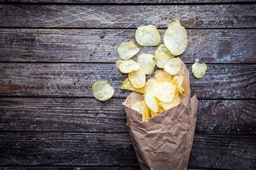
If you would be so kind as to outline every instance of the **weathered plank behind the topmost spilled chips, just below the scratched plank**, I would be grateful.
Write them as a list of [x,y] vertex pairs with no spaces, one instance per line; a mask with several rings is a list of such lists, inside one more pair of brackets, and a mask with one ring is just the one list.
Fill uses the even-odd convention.
[[[159,30],[163,40],[165,30]],[[201,30],[188,32],[185,63],[256,63],[256,30]],[[0,29],[0,61],[115,62],[118,46],[134,41],[135,30]],[[163,41],[161,41],[163,43]],[[156,47],[140,47],[154,54]]]

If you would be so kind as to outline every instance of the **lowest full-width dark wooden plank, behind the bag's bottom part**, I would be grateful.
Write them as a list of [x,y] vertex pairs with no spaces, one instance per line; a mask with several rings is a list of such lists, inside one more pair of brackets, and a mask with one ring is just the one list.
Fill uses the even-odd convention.
[[[254,168],[255,136],[200,136],[189,167]],[[0,133],[1,165],[138,165],[128,133]]]

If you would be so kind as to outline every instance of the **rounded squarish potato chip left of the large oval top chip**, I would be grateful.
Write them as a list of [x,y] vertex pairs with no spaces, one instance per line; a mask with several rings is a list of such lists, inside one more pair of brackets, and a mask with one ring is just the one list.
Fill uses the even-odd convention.
[[135,39],[140,46],[156,46],[160,43],[160,34],[153,25],[140,26],[136,30]]

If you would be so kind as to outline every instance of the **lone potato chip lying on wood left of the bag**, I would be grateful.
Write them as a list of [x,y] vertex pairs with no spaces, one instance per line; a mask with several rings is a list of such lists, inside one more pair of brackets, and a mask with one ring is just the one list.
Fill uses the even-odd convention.
[[114,95],[114,89],[106,81],[96,81],[92,84],[92,93],[99,101],[106,101]]

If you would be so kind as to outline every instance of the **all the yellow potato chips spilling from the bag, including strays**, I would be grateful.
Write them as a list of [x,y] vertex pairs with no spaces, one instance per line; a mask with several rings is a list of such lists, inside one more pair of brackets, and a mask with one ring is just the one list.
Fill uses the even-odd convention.
[[[135,38],[140,46],[157,46],[160,43],[160,34],[153,25],[138,27]],[[182,54],[186,47],[187,32],[179,20],[168,25],[164,44],[157,47],[154,55],[142,53],[134,61],[131,58],[140,50],[134,42],[123,42],[118,47],[118,55],[122,60],[116,61],[117,68],[128,74],[121,89],[143,94],[144,100],[132,106],[133,110],[142,114],[143,122],[181,103],[179,95],[185,91],[182,87],[184,77],[179,74],[182,61],[176,56]],[[161,69],[146,81],[146,75],[151,75],[156,65]],[[207,66],[195,63],[192,69],[195,76],[200,78],[204,76]],[[102,84],[103,88],[93,88],[92,91],[98,100],[105,101],[113,95],[113,90],[108,83]]]

